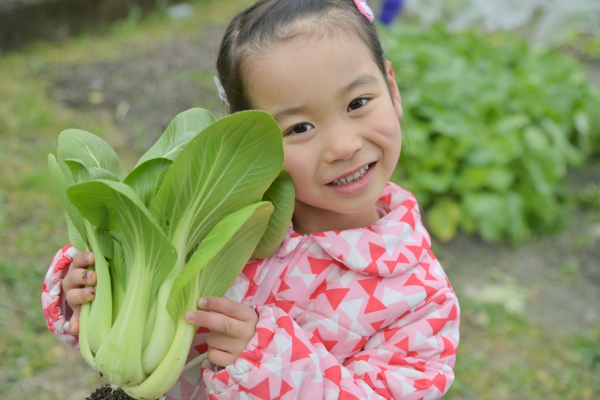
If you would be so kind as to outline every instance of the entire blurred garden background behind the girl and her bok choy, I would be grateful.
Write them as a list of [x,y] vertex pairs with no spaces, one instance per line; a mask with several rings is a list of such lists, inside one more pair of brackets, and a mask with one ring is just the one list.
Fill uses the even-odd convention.
[[[224,115],[225,25],[251,0],[0,0],[0,398],[84,399],[98,374],[47,330],[67,229],[58,134],[131,168],[179,112]],[[447,399],[600,399],[600,1],[372,1],[403,97],[393,177],[462,307]]]

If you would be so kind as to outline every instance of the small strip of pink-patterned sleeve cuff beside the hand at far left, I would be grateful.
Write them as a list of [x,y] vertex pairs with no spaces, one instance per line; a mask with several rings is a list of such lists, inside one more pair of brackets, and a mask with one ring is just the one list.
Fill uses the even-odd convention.
[[77,250],[71,246],[65,246],[56,253],[48,273],[44,278],[42,286],[42,309],[46,317],[48,328],[63,343],[70,347],[79,348],[79,338],[71,332],[69,320],[73,310],[67,303],[66,296],[62,290],[62,281],[69,272],[69,267]]

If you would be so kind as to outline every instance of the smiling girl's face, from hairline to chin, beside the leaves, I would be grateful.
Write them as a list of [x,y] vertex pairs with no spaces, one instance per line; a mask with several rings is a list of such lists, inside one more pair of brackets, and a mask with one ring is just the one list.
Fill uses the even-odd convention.
[[[375,220],[359,225],[376,222],[375,202],[402,143],[391,63],[384,76],[359,40],[298,36],[249,66],[254,108],[270,113],[284,135],[283,167],[296,185],[295,224],[315,215],[325,224],[328,218],[363,221],[367,215]],[[342,228],[313,231],[359,227],[333,225]]]

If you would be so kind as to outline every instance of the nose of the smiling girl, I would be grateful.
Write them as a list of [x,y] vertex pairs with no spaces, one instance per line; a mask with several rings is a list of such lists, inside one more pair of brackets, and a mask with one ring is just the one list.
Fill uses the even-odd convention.
[[332,124],[321,137],[324,145],[324,159],[329,164],[351,159],[364,146],[356,126],[353,127],[349,123]]

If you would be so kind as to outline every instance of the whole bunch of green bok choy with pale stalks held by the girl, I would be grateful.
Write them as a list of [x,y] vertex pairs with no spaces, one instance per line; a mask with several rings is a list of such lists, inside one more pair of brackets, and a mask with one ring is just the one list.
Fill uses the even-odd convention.
[[294,186],[281,169],[281,131],[260,111],[214,122],[192,109],[129,174],[106,142],[80,130],[62,132],[48,162],[71,242],[96,256],[81,353],[132,397],[161,397],[195,333],[185,312],[201,296],[225,294],[287,232]]

